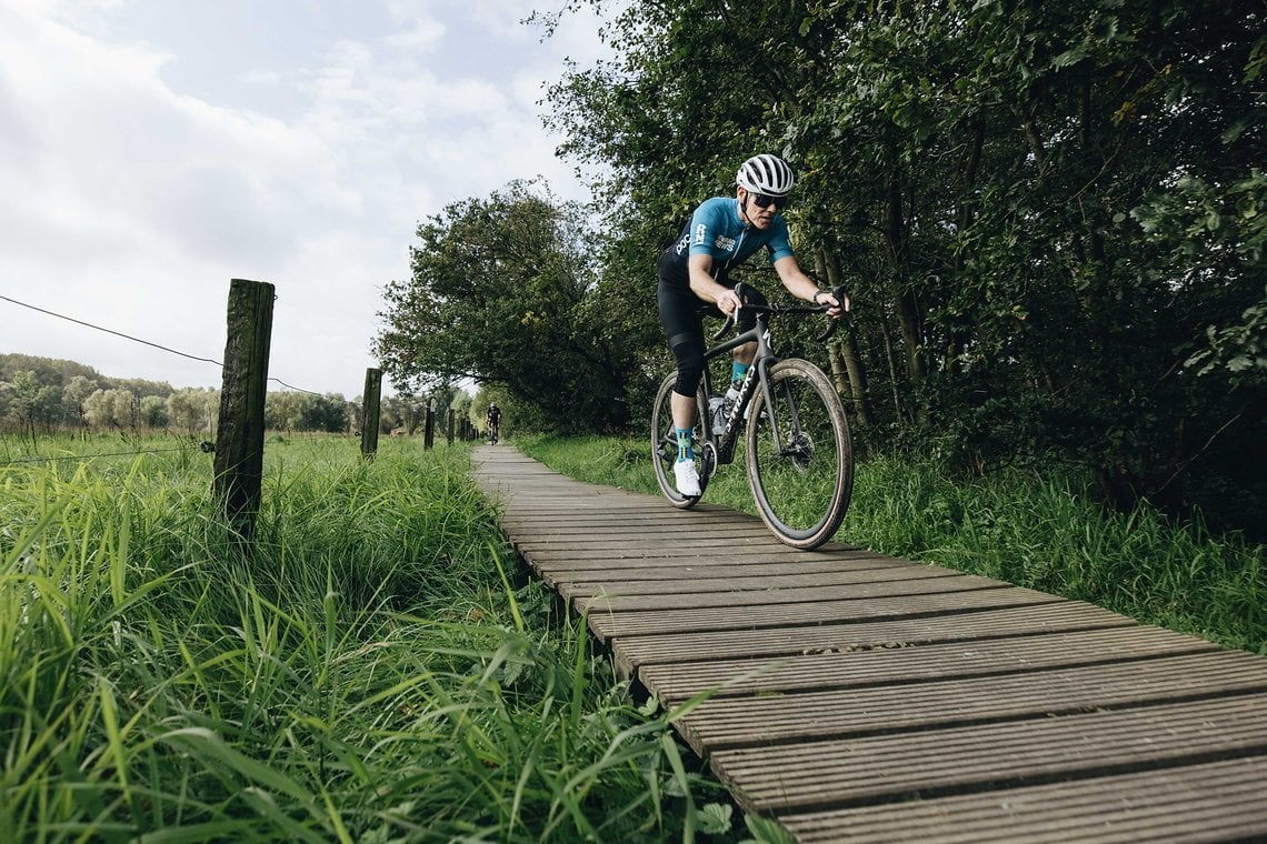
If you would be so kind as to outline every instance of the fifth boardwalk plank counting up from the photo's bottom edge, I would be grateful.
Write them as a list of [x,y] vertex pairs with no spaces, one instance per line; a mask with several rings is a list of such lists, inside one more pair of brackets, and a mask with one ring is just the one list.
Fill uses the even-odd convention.
[[740,657],[788,657],[906,648],[934,643],[981,642],[1052,631],[1134,628],[1130,619],[1081,601],[981,610],[944,616],[824,623],[816,626],[703,633],[669,631],[614,639],[612,652],[622,677],[647,666],[672,666]]

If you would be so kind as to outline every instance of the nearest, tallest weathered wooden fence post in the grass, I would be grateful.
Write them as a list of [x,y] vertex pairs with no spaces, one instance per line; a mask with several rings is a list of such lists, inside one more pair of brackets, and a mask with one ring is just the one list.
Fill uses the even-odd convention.
[[224,502],[229,528],[246,540],[255,533],[260,511],[274,290],[262,281],[233,278],[229,283],[212,491]]

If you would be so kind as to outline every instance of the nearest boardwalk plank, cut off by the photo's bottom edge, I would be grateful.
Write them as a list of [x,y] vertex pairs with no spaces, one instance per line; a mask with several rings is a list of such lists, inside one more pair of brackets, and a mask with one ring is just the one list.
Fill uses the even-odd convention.
[[779,816],[801,844],[1267,840],[1267,757]]

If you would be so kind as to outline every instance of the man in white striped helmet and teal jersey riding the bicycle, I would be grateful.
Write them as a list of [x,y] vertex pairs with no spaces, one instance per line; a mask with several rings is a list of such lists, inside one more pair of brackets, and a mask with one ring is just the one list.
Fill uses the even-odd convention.
[[[673,387],[673,424],[678,434],[674,480],[678,492],[684,496],[701,493],[691,434],[696,421],[696,390],[704,368],[703,316],[730,316],[744,304],[768,304],[765,296],[749,285],[744,285],[748,301],[741,302],[727,278],[731,267],[765,247],[779,281],[793,296],[827,305],[827,314],[834,319],[849,309],[849,297],[837,301],[831,292],[820,290],[802,272],[792,252],[783,211],[794,183],[792,168],[782,158],[753,156],[735,176],[735,196],[704,200],[678,240],[660,256],[656,287],[660,325],[678,362],[678,382]],[[755,325],[756,316],[751,311],[740,311],[740,330]],[[731,390],[744,380],[755,353],[755,343],[735,349]]]

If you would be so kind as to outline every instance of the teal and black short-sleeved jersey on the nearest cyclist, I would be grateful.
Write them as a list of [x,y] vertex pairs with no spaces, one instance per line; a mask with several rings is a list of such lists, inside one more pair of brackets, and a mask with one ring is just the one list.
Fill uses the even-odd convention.
[[769,252],[770,263],[793,254],[783,215],[775,214],[768,229],[758,229],[744,223],[739,215],[739,200],[717,196],[701,202],[682,237],[665,249],[660,266],[669,271],[673,281],[688,283],[687,262],[691,256],[707,254],[713,259],[713,277],[726,283],[730,268],[761,247]]

